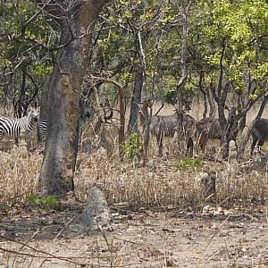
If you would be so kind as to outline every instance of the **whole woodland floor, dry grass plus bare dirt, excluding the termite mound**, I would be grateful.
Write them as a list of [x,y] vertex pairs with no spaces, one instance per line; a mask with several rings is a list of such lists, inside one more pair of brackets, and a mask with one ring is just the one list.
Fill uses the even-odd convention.
[[[34,197],[42,155],[14,147],[0,158],[0,267],[268,267],[265,171],[172,156],[133,168],[80,153],[76,199],[54,204]],[[205,163],[217,172],[214,205],[200,200]],[[72,222],[96,181],[113,223],[90,233]]]

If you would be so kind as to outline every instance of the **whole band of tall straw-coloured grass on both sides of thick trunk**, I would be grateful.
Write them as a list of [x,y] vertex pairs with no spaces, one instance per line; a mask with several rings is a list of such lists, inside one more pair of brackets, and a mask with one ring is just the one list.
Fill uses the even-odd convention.
[[[171,114],[166,107],[163,114]],[[157,109],[155,109],[156,111]],[[1,140],[3,142],[3,140]],[[8,141],[6,141],[8,143]],[[167,155],[155,157],[155,142],[150,141],[149,162],[146,167],[133,168],[131,160],[120,162],[118,154],[107,156],[105,151],[86,154],[80,152],[79,167],[75,173],[75,194],[84,201],[91,183],[99,182],[105,188],[110,205],[124,203],[138,209],[142,206],[181,207],[202,206],[199,194],[198,176],[202,167],[190,166],[177,171],[171,140],[166,140]],[[37,191],[38,176],[43,155],[37,152],[27,156],[25,145],[13,147],[10,151],[0,151],[0,202],[21,202]],[[219,205],[264,205],[268,198],[268,176],[265,172],[239,172],[230,176],[225,164],[208,162],[218,173],[217,203]]]

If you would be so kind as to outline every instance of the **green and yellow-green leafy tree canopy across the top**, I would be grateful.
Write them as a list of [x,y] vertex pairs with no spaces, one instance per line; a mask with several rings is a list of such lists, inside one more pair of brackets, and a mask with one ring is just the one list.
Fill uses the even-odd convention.
[[[91,71],[131,83],[133,68],[141,64],[136,42],[140,34],[149,95],[163,99],[180,78],[182,13],[189,3],[186,96],[188,90],[198,92],[201,72],[203,86],[219,84],[221,69],[221,83],[230,82],[236,97],[247,95],[250,100],[264,94],[268,69],[264,0],[111,1],[96,24]],[[9,86],[7,94],[20,91],[23,71],[29,75],[29,88],[33,81],[41,88],[59,44],[58,18],[34,1],[3,1],[1,14],[2,91],[4,85]],[[237,108],[243,105],[238,103]]]

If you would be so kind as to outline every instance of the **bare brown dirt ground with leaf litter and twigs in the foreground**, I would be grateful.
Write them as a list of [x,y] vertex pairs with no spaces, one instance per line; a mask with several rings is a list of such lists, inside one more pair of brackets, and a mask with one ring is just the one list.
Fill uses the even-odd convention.
[[261,208],[111,210],[113,230],[96,233],[72,223],[80,205],[0,214],[0,267],[268,267]]

